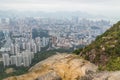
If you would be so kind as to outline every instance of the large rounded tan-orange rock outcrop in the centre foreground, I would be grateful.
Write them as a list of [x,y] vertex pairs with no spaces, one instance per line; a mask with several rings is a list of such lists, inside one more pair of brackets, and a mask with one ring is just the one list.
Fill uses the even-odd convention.
[[73,54],[57,54],[33,66],[29,73],[4,80],[76,80],[97,66]]

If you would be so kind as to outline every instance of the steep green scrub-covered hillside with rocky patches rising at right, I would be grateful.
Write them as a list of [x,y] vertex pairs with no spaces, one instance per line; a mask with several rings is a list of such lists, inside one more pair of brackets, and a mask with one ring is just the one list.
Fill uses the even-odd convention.
[[74,53],[99,65],[100,70],[120,70],[120,21],[95,41]]

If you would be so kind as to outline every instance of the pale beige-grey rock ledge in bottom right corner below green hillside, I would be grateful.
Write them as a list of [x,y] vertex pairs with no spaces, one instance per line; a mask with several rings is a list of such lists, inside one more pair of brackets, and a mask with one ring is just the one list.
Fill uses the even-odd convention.
[[120,80],[120,71],[87,72],[86,75],[80,77],[79,80]]

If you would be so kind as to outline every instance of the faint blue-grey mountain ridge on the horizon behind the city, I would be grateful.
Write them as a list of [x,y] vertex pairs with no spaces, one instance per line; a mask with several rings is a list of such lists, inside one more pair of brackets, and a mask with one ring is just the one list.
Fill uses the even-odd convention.
[[80,18],[100,18],[104,19],[102,15],[92,15],[81,11],[58,11],[58,12],[43,12],[43,11],[0,11],[0,17],[50,17],[50,18],[68,18],[68,17],[80,17]]

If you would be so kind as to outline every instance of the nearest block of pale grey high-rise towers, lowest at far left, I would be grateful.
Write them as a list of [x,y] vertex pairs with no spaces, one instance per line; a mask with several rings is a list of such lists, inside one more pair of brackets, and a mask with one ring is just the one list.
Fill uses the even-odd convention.
[[16,66],[29,66],[32,59],[34,58],[34,53],[30,51],[23,51],[17,55],[9,55],[7,53],[2,55],[4,66],[16,65]]

